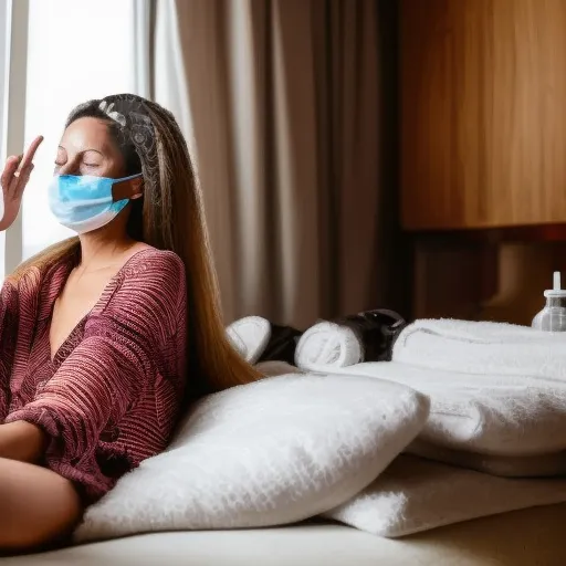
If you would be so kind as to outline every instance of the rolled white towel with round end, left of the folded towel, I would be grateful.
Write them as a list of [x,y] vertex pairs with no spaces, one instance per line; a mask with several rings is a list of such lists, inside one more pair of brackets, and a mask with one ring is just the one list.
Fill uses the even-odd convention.
[[319,365],[347,367],[364,360],[364,345],[347,326],[321,322],[301,336],[295,349],[295,364],[308,370]]

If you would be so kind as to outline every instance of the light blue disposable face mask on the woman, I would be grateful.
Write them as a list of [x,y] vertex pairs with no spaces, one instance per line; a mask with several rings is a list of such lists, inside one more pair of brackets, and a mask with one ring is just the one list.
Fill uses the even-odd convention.
[[59,222],[80,234],[112,222],[129,202],[114,202],[113,185],[142,177],[142,174],[111,179],[90,175],[56,175],[49,186],[51,212]]

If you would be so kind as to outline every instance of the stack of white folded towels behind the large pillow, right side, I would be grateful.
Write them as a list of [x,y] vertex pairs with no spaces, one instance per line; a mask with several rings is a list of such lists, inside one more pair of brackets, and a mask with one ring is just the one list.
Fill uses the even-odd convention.
[[566,473],[566,335],[422,319],[400,333],[391,359],[310,369],[389,379],[428,395],[430,418],[413,454],[503,476]]

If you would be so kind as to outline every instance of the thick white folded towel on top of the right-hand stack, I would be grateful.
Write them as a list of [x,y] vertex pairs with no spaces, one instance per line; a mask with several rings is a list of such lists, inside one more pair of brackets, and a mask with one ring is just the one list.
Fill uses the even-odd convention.
[[566,333],[502,323],[421,319],[401,332],[392,360],[468,374],[566,379]]

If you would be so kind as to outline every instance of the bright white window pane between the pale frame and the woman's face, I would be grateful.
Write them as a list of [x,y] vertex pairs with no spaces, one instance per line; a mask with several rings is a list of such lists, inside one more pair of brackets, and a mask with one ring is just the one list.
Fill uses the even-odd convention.
[[72,235],[51,216],[46,195],[69,112],[91,98],[136,92],[135,1],[29,2],[25,142],[45,139],[23,199],[22,259]]

